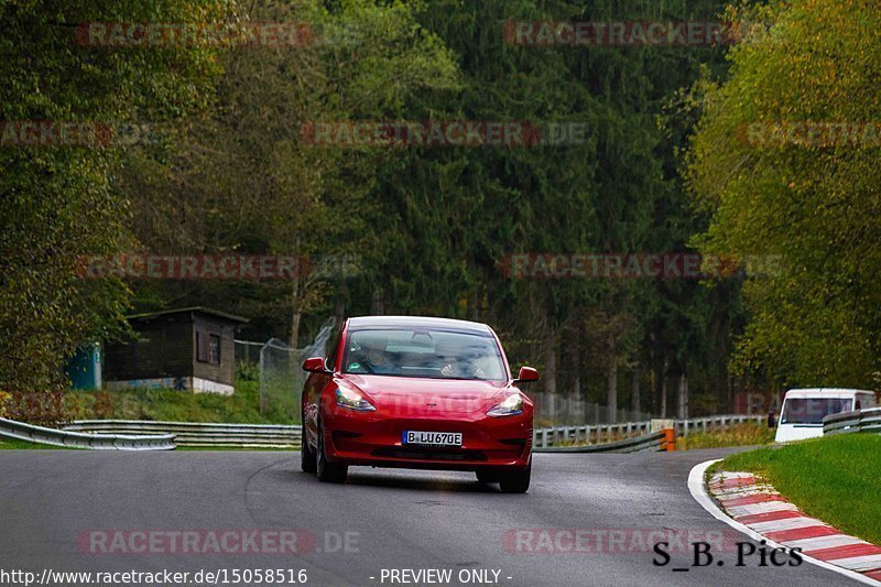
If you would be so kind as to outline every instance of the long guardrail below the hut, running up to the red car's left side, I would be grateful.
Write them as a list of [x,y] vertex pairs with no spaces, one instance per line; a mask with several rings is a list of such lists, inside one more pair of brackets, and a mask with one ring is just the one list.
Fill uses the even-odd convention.
[[177,446],[236,448],[296,448],[301,426],[281,424],[216,424],[142,420],[80,420],[65,430],[111,434],[174,434]]

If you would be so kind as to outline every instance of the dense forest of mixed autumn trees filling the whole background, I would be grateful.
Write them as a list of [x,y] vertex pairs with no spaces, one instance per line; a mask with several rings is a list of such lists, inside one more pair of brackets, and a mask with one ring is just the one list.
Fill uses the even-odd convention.
[[[64,389],[78,345],[128,336],[128,314],[195,305],[292,346],[328,316],[486,322],[512,367],[541,370],[537,391],[654,414],[878,388],[881,6],[728,4],[0,0],[0,390]],[[578,44],[530,24],[561,22],[725,34]],[[267,23],[274,36],[254,34]],[[429,121],[526,131],[350,132]],[[81,268],[230,253],[309,270]],[[704,270],[681,271],[698,254]],[[569,267],[590,256],[599,270]],[[675,267],[622,270],[645,256]]]

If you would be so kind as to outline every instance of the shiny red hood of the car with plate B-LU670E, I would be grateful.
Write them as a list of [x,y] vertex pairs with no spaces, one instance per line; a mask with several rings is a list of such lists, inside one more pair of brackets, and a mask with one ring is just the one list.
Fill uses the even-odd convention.
[[400,413],[431,411],[437,414],[486,412],[512,390],[507,381],[423,379],[346,374],[345,384],[366,394],[378,410]]

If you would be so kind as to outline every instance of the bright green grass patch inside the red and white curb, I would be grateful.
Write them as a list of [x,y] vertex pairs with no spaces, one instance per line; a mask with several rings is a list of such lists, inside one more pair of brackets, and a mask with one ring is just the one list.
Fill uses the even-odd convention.
[[751,471],[807,515],[881,544],[881,435],[841,434],[759,448],[717,463],[708,474]]

